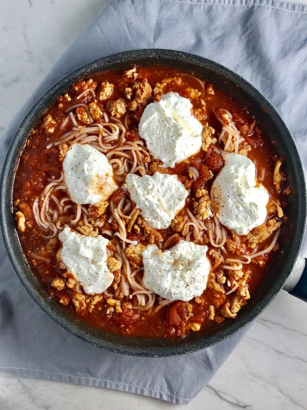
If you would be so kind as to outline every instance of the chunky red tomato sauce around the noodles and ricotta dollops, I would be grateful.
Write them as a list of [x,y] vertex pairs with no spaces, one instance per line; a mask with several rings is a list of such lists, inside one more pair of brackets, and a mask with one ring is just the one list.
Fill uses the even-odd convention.
[[[91,77],[97,82],[96,87],[94,87],[96,97],[102,81],[108,81],[110,84],[114,85],[114,91],[111,97],[104,101],[100,101],[98,99],[98,105],[102,111],[108,113],[108,101],[111,100],[113,101],[121,98],[127,103],[128,100],[126,98],[125,89],[126,87],[133,86],[135,81],[147,81],[152,89],[155,89],[155,86],[157,86],[158,83],[160,83],[160,85],[165,83],[163,93],[176,91],[181,96],[190,98],[193,104],[193,114],[202,122],[204,126],[208,123],[209,126],[213,127],[215,129],[214,136],[216,137],[218,137],[222,131],[222,124],[216,118],[214,112],[217,109],[228,110],[232,114],[234,123],[239,130],[240,135],[245,138],[247,144],[251,148],[247,154],[248,157],[255,163],[257,177],[261,177],[261,183],[268,190],[270,197],[278,199],[282,204],[282,208],[286,211],[287,196],[282,193],[277,193],[276,186],[273,183],[274,167],[278,158],[277,151],[266,136],[265,130],[261,130],[255,123],[252,113],[250,113],[246,108],[238,106],[230,96],[216,89],[214,85],[212,94],[212,87],[207,84],[206,81],[204,83],[206,91],[203,95],[192,98],[191,89],[200,90],[202,93],[198,79],[191,75],[182,75],[182,71],[177,69],[161,68],[158,66],[138,67],[137,73],[138,78],[136,80],[133,77],[126,77],[123,75],[123,72],[119,71],[103,72],[95,74]],[[182,80],[179,81],[178,78],[181,78]],[[167,83],[165,79],[172,80]],[[86,81],[87,78],[84,78],[84,80]],[[61,301],[61,303],[63,300],[68,301],[67,305],[63,305],[63,309],[68,310],[73,316],[80,318],[80,320],[89,323],[91,326],[96,327],[97,329],[106,330],[108,332],[125,336],[146,338],[176,336],[184,337],[191,330],[199,330],[197,326],[198,324],[200,327],[205,327],[225,320],[225,316],[221,313],[221,309],[227,302],[230,302],[236,294],[236,292],[233,292],[232,294],[225,296],[225,292],[228,292],[231,289],[231,287],[228,286],[229,282],[227,272],[224,272],[224,275],[227,278],[226,282],[220,283],[220,288],[224,290],[224,295],[214,291],[211,286],[211,289],[207,288],[201,297],[196,299],[193,298],[190,302],[174,301],[165,308],[160,309],[155,314],[152,314],[152,311],[142,312],[136,309],[131,309],[129,303],[135,303],[136,296],[131,299],[129,297],[121,297],[120,303],[122,312],[116,312],[114,310],[110,313],[110,306],[106,302],[107,297],[103,296],[102,300],[95,304],[91,312],[86,307],[86,309],[80,313],[76,313],[76,308],[72,303],[72,298],[76,294],[75,288],[70,289],[67,286],[67,281],[70,275],[63,276],[66,272],[65,268],[58,264],[58,260],[56,258],[56,254],[60,248],[60,242],[57,240],[57,235],[51,240],[45,238],[46,230],[39,228],[37,225],[33,216],[32,207],[35,198],[41,194],[42,190],[49,183],[50,178],[57,179],[60,177],[62,162],[59,159],[59,146],[53,145],[50,147],[50,145],[52,142],[57,141],[64,133],[69,132],[73,127],[71,122],[68,121],[67,125],[63,127],[63,129],[60,129],[59,125],[68,115],[65,110],[75,104],[89,105],[94,101],[94,99],[96,99],[92,92],[87,92],[78,99],[77,96],[83,91],[82,87],[83,86],[81,84],[79,90],[70,89],[68,91],[68,95],[71,98],[69,101],[64,96],[58,98],[56,103],[47,113],[50,114],[56,121],[57,125],[54,132],[48,133],[46,128],[43,126],[43,119],[41,119],[29,136],[27,146],[20,158],[14,186],[15,210],[22,212],[26,218],[26,230],[25,232],[19,232],[19,237],[33,271],[43,283],[46,291],[52,298],[57,301]],[[152,93],[148,101],[146,101],[146,104],[151,103],[155,99],[159,100],[159,93],[156,97],[155,94]],[[143,110],[144,107],[139,107],[134,111],[127,110],[124,114],[126,115],[126,123],[128,124],[128,130],[125,134],[125,139],[127,141],[141,140],[138,133],[138,122]],[[72,112],[75,114],[76,109]],[[121,117],[120,119],[123,120],[123,118],[124,117]],[[76,120],[79,125],[85,125],[82,121],[78,120],[77,117]],[[103,124],[103,117],[97,119],[96,122],[98,124]],[[216,146],[219,145],[216,144]],[[223,148],[223,143],[221,143],[220,147]],[[153,172],[152,170],[155,168],[152,167],[158,167],[161,171],[161,164],[161,161],[154,160],[151,157],[148,172]],[[185,184],[187,189],[190,190],[189,197],[187,198],[186,209],[189,209],[194,215],[195,211],[193,209],[193,201],[195,199],[196,190],[205,188],[210,192],[212,181],[223,167],[223,164],[224,161],[221,153],[218,150],[215,150],[215,146],[211,144],[207,151],[201,150],[200,153],[188,158],[182,163],[176,164],[174,168],[168,168],[167,172],[169,174],[177,174],[180,181]],[[196,181],[194,181],[189,175],[188,168],[190,166],[199,171],[200,177]],[[211,177],[211,172],[214,175],[213,178]],[[122,185],[122,180],[117,180],[117,182],[118,185]],[[286,184],[286,182],[284,182],[284,184]],[[283,185],[283,188],[284,187],[286,187],[286,185]],[[119,188],[119,190],[113,195],[113,202],[117,205],[124,194],[126,194],[125,190]],[[58,200],[61,200],[65,194],[59,190],[54,195]],[[52,205],[50,206],[52,207]],[[89,206],[85,205],[85,208],[88,209]],[[55,207],[53,209],[55,209]],[[62,217],[63,222],[70,224],[70,216],[73,215],[74,212],[74,209],[70,208],[65,216]],[[101,229],[99,228],[99,232],[104,229],[115,233],[116,226],[114,221],[108,222],[109,217],[111,216],[111,211],[109,208],[106,209],[105,214],[106,218],[103,221],[103,227]],[[181,211],[180,215],[186,215],[186,210],[184,209]],[[269,217],[272,217],[272,215],[275,214],[270,214]],[[279,220],[277,216],[276,219]],[[75,227],[72,226],[72,228]],[[230,230],[226,229],[226,232],[229,239],[233,238]],[[163,237],[163,243],[165,243],[165,241],[176,232],[169,227],[165,230],[159,231],[159,233]],[[179,237],[183,237],[181,232],[178,232],[178,235]],[[265,249],[271,243],[273,235],[274,234],[272,234],[264,242],[260,243],[257,251]],[[128,233],[127,238],[130,240],[137,240],[145,245],[148,243],[148,236],[146,236],[144,229],[142,228],[139,232],[134,231]],[[247,239],[241,237],[240,240],[242,243],[242,252],[244,251],[247,255],[251,255],[254,250],[247,247]],[[170,245],[172,245],[172,243],[170,243]],[[207,243],[207,245],[209,250],[213,249],[210,242]],[[33,254],[35,255],[33,256]],[[40,260],[37,259],[37,255],[40,257]],[[226,259],[227,257],[236,257],[237,255],[231,251],[228,251],[228,254],[224,254],[223,256],[224,259]],[[257,285],[267,273],[266,263],[270,257],[271,254],[261,255],[256,259],[259,263],[250,263],[249,265],[244,265],[243,267],[244,272],[247,272],[247,270],[249,272],[247,286],[251,297],[253,297],[253,293],[257,288]],[[209,255],[209,259],[212,265],[214,265],[214,257]],[[221,271],[221,269],[216,267],[214,272],[216,273],[218,271]],[[66,285],[63,290],[57,290],[51,286],[51,282],[55,278],[64,278]],[[237,289],[239,290],[240,286]],[[91,298],[91,296],[84,294],[81,286],[79,291],[81,292],[81,295],[85,295],[86,299]],[[111,286],[107,292],[114,296],[116,290]],[[86,306],[87,305],[88,304],[86,303]],[[155,306],[157,306],[157,300],[155,302]],[[215,310],[213,320],[210,320],[211,308],[209,309],[209,306],[213,306]]]

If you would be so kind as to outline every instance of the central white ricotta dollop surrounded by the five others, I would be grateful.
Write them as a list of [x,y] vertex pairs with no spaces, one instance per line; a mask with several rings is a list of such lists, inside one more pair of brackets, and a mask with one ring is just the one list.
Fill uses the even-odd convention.
[[150,227],[165,229],[185,206],[188,191],[177,175],[156,172],[152,176],[128,174],[127,189]]

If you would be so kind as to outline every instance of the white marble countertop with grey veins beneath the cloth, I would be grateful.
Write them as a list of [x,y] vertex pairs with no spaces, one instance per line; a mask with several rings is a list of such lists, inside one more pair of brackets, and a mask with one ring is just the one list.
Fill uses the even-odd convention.
[[[2,0],[0,131],[104,3],[105,0]],[[306,4],[307,0],[296,0],[296,3]],[[306,346],[307,303],[281,291],[209,385],[186,408],[307,409]],[[110,407],[143,410],[180,406],[103,388],[0,372],[0,409],[56,410],[62,407],[65,410]]]

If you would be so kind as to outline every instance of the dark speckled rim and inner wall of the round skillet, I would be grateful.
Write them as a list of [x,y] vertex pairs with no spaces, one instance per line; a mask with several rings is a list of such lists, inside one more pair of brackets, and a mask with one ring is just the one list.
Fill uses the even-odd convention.
[[[282,235],[280,249],[274,253],[267,267],[268,273],[249,303],[242,308],[238,318],[225,320],[210,329],[195,332],[185,339],[155,340],[127,338],[113,335],[78,321],[52,300],[46,289],[32,272],[21,249],[12,214],[13,185],[19,158],[28,135],[36,122],[53,104],[56,97],[67,91],[80,78],[108,69],[129,69],[133,65],[158,63],[175,66],[199,74],[222,91],[233,96],[242,106],[255,115],[260,126],[266,130],[287,167],[292,194],[287,210],[289,222]],[[51,87],[30,110],[13,136],[7,154],[1,181],[0,216],[5,245],[13,267],[34,301],[40,308],[73,335],[106,350],[126,355],[161,357],[174,356],[201,350],[233,335],[250,323],[265,309],[282,288],[295,263],[304,232],[306,216],[306,192],[303,169],[293,139],[280,116],[253,86],[242,77],[211,60],[196,55],[171,50],[134,50],[103,57],[71,72]]]

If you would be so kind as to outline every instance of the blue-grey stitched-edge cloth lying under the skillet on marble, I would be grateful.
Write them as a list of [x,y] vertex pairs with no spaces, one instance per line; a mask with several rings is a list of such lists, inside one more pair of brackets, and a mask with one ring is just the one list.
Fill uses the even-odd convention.
[[[307,7],[269,0],[109,1],[2,136],[1,167],[21,119],[55,81],[93,59],[139,48],[199,54],[245,77],[283,117],[307,169]],[[305,240],[302,256],[306,247]],[[36,306],[19,283],[2,240],[0,258],[0,370],[5,372],[187,404],[243,336],[173,358],[105,352],[64,331]]]

